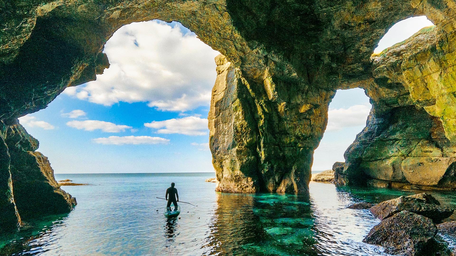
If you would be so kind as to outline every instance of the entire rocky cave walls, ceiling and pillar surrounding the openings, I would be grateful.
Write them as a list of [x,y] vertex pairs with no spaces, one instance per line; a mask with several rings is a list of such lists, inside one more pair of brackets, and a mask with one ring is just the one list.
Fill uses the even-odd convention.
[[[451,164],[443,152],[456,140],[453,0],[18,0],[0,8],[0,229],[71,210],[74,199],[58,188],[17,118],[46,108],[68,86],[94,80],[109,66],[104,43],[136,21],[179,21],[223,54],[208,117],[218,191],[306,193],[328,104],[337,89],[353,87],[366,90],[373,110],[339,166],[339,183],[396,179],[369,172],[375,161],[396,159],[372,146],[391,136],[434,143],[442,155],[432,157]],[[386,30],[412,15],[436,26],[411,47],[371,59]],[[420,131],[406,138],[403,124]],[[415,156],[413,148],[401,153],[404,184],[416,183],[404,170],[431,154]],[[385,171],[397,167],[388,163]],[[391,177],[398,177],[396,167]],[[36,212],[37,204],[49,207]]]

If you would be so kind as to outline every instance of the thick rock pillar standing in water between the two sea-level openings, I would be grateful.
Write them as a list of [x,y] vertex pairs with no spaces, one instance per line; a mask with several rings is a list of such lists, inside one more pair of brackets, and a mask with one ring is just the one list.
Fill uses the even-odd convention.
[[[306,110],[298,108],[303,99],[268,103],[259,97],[268,92],[257,92],[225,56],[217,56],[216,63],[218,76],[208,116],[216,190],[307,192],[311,154],[321,139],[314,136],[322,135],[327,117],[321,113],[326,113],[333,93],[315,95],[311,100],[316,105]],[[273,90],[274,85],[264,86]],[[315,125],[311,127],[309,120]],[[310,148],[300,146],[309,144]]]

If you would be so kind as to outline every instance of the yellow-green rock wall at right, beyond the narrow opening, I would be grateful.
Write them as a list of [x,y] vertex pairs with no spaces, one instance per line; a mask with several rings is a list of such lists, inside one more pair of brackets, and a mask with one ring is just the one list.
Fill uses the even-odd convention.
[[375,86],[366,93],[373,110],[337,184],[456,188],[452,37],[428,27],[372,57]]

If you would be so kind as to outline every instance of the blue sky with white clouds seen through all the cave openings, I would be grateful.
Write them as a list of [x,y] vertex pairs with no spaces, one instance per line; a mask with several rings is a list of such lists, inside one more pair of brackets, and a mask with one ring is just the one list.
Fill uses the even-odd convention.
[[[412,35],[426,22],[415,17],[404,28]],[[213,172],[206,118],[218,52],[180,23],[158,20],[123,26],[104,52],[111,66],[96,81],[20,118],[55,173]],[[370,108],[362,89],[337,91],[314,171],[343,161]]]

